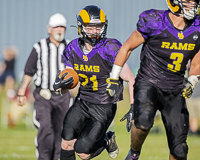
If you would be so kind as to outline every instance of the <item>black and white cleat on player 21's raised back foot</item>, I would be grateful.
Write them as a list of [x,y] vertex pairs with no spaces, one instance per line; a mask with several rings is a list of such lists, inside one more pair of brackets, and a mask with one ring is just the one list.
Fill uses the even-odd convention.
[[108,131],[105,136],[105,140],[107,142],[106,150],[110,156],[110,158],[116,158],[119,152],[119,148],[117,146],[115,140],[115,132]]

